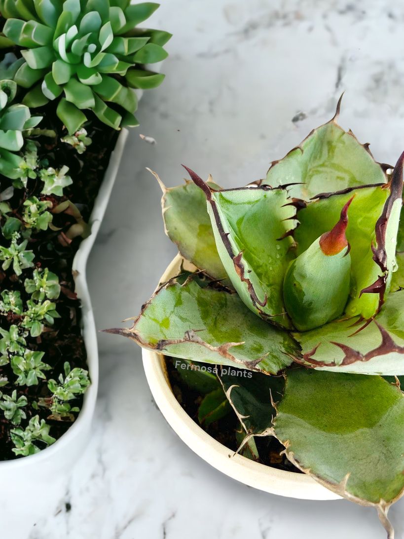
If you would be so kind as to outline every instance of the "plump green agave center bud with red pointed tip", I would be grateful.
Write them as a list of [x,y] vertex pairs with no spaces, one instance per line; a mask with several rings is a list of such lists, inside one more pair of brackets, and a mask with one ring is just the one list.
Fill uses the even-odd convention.
[[288,315],[299,331],[307,331],[342,315],[350,291],[351,257],[346,239],[348,208],[338,223],[292,260],[283,281]]

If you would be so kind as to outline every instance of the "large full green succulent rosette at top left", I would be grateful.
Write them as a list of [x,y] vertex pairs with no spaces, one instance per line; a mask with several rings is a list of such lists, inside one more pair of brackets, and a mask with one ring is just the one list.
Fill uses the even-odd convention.
[[171,37],[136,29],[157,8],[130,0],[0,0],[4,35],[22,47],[13,78],[29,89],[25,105],[58,99],[69,135],[86,122],[88,109],[114,129],[138,125],[131,88],[162,82],[164,75],[142,66],[163,60],[162,46]]

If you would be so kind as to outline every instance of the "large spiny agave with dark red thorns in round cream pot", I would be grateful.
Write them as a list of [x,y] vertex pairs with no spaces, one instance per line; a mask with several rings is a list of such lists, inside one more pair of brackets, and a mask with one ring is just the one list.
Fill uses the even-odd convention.
[[404,291],[393,279],[404,154],[394,169],[375,162],[338,113],[246,187],[221,189],[190,169],[192,182],[160,182],[166,233],[194,271],[159,286],[133,327],[108,331],[255,371],[254,384],[219,371],[243,444],[276,437],[303,472],[375,507],[393,537],[404,396],[384,377],[404,375]]

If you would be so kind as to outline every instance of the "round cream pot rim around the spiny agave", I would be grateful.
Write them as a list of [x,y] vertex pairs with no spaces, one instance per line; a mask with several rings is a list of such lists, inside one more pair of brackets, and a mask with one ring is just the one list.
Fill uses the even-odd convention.
[[[182,258],[177,256],[164,272],[161,282],[180,272]],[[340,496],[326,489],[308,475],[286,472],[233,454],[209,436],[185,412],[173,395],[168,381],[164,357],[142,350],[143,367],[155,402],[172,429],[208,464],[229,477],[250,487],[304,500],[337,500]]]

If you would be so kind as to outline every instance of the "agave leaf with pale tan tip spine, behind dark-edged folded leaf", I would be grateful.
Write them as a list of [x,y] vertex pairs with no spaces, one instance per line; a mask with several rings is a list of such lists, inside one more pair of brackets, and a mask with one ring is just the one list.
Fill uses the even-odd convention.
[[[203,192],[192,182],[166,188],[158,175],[152,174],[163,191],[162,209],[167,236],[178,246],[183,257],[198,269],[212,279],[226,279],[227,273],[216,247]],[[213,182],[210,185],[220,189]]]

